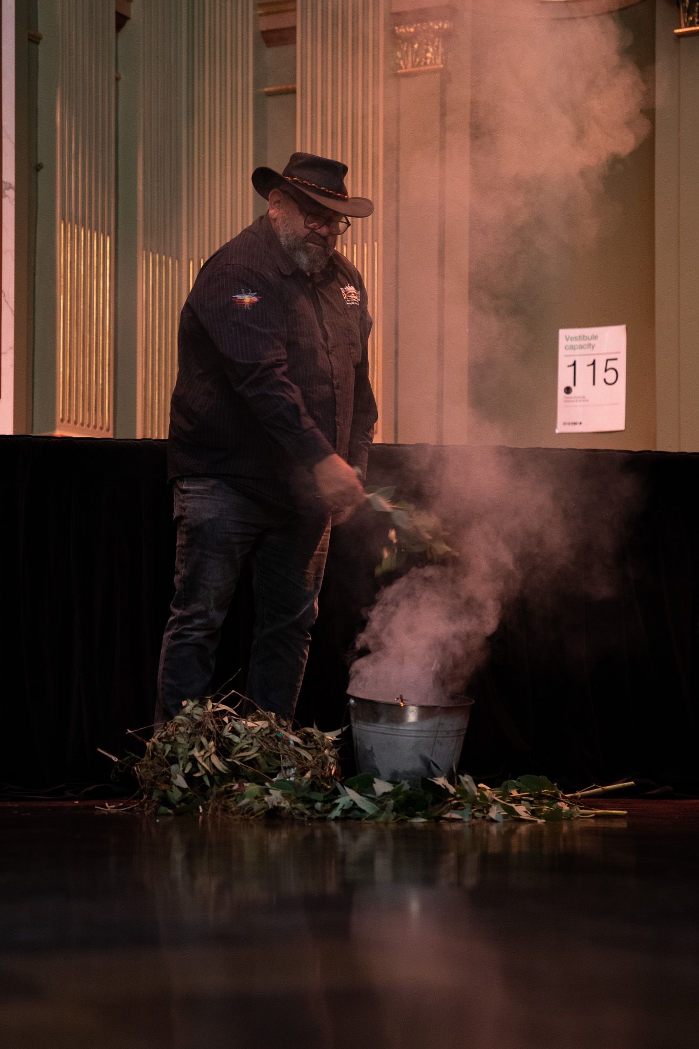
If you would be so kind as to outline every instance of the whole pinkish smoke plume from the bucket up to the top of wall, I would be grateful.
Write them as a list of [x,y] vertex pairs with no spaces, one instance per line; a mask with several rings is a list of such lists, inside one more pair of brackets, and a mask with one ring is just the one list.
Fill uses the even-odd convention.
[[[494,4],[494,10],[500,7]],[[475,24],[471,119],[469,355],[472,440],[506,441],[488,406],[509,385],[527,397],[527,303],[561,257],[616,221],[605,179],[649,132],[648,88],[614,15],[494,18]],[[581,456],[518,458],[481,448],[432,470],[431,504],[451,522],[460,557],[413,569],[385,587],[356,642],[350,691],[437,702],[461,691],[503,613],[525,593],[585,586],[608,596],[618,536],[637,507],[628,475]],[[548,465],[546,465],[548,464]],[[449,478],[449,479],[446,479]],[[582,513],[584,508],[585,513]],[[573,566],[585,555],[585,582]]]

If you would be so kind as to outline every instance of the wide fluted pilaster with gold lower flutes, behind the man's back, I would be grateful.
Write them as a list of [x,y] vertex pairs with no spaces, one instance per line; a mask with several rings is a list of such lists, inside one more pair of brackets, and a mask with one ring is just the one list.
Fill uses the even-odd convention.
[[143,6],[140,436],[168,435],[195,267],[253,220],[254,19],[248,0]]

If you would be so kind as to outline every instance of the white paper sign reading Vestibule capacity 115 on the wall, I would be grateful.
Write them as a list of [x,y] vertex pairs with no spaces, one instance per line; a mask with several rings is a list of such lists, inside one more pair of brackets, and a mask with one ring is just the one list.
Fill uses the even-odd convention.
[[627,326],[561,328],[556,433],[624,430]]

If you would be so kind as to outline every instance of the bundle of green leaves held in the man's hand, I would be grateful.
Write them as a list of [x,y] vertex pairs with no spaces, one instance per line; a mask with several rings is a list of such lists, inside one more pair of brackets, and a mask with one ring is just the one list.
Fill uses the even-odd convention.
[[390,514],[393,523],[388,532],[389,541],[384,548],[381,562],[374,570],[377,576],[395,572],[406,563],[409,554],[424,554],[429,561],[458,556],[444,541],[449,533],[436,514],[416,510],[412,502],[392,502],[395,488],[366,487],[365,492],[370,506],[379,513]]

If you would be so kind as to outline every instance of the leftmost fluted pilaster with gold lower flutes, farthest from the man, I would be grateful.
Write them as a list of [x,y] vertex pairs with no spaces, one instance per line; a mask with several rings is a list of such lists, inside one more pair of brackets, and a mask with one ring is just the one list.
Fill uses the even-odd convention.
[[57,429],[111,436],[114,6],[58,2]]

